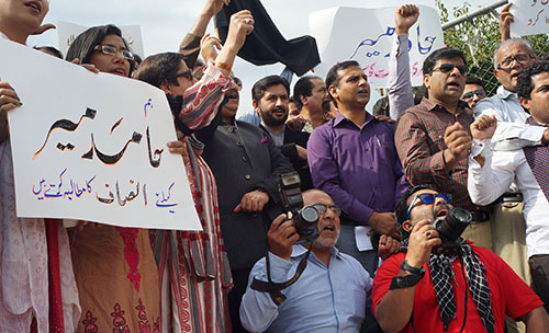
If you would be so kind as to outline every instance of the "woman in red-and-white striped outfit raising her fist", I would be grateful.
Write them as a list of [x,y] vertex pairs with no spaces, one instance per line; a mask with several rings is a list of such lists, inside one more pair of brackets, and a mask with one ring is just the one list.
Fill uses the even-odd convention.
[[[232,19],[225,47],[216,56],[216,61],[221,64],[233,65],[236,53],[244,43],[243,36],[250,32],[249,27],[245,26],[243,21],[246,19],[243,19],[242,14],[235,14]],[[204,47],[209,46],[204,44]],[[180,107],[179,103],[172,101],[172,106],[178,105],[173,111],[182,116],[183,120],[203,119],[192,128],[198,130],[208,126],[219,112],[217,104],[223,100],[219,90],[225,92],[231,87],[228,74],[226,69],[214,67],[210,62],[202,80],[194,83],[184,56],[165,53],[147,57],[135,78],[160,88],[170,100],[182,96],[184,105]],[[197,94],[197,91],[209,93]],[[189,123],[184,125],[190,126]],[[212,171],[201,157],[203,145],[191,136],[188,128],[181,130],[186,130],[184,134],[178,133],[182,142],[170,142],[168,147],[172,152],[182,148],[194,205],[203,230],[157,231],[157,239],[160,241],[156,242],[159,245],[155,252],[167,249],[159,263],[160,272],[166,272],[160,276],[160,285],[166,286],[161,289],[163,305],[166,305],[163,307],[163,323],[168,323],[164,330],[169,331],[169,328],[172,328],[173,332],[231,332],[226,294],[232,283],[227,254],[221,237],[217,185]],[[176,239],[177,244],[172,243],[171,239]],[[173,262],[172,259],[177,261]]]

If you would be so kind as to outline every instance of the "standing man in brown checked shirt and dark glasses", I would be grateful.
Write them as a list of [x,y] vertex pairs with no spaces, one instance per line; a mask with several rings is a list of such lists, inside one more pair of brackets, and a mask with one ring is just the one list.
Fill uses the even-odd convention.
[[395,142],[408,182],[430,184],[451,194],[456,204],[471,210],[472,223],[463,238],[492,249],[490,210],[473,205],[467,193],[467,156],[472,139],[473,112],[461,101],[467,64],[456,48],[433,51],[423,64],[428,99],[406,110],[396,125]]

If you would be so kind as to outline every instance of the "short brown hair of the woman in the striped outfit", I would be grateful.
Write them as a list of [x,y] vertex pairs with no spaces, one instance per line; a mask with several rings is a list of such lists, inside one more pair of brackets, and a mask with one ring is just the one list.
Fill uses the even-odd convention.
[[164,80],[179,85],[177,73],[183,60],[183,55],[178,53],[163,53],[148,56],[141,62],[134,78],[157,88],[160,88]]

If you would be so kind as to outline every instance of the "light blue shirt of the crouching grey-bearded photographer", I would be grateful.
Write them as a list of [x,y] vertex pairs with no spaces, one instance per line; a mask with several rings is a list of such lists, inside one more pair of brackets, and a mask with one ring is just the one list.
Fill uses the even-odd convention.
[[[289,280],[306,249],[294,245],[285,261],[269,252],[271,278]],[[282,289],[287,300],[277,307],[267,292],[250,289],[254,277],[266,282],[265,257],[250,273],[248,288],[240,306],[240,320],[251,332],[359,332],[366,315],[366,297],[372,280],[368,272],[350,255],[332,249],[328,266],[314,253],[298,280]]]

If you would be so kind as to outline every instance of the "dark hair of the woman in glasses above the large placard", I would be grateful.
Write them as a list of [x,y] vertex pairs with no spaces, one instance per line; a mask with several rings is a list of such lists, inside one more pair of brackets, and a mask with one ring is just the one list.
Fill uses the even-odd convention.
[[[80,61],[78,64],[80,65],[91,64],[90,59],[94,47],[101,45],[104,37],[108,35],[116,35],[122,38],[122,31],[113,24],[92,26],[88,28],[83,33],[79,34],[76,37],[75,42],[70,44],[70,47],[67,50],[67,57],[65,59],[68,61],[72,61],[74,59],[78,58]],[[130,49],[130,46],[127,46],[127,43],[124,38],[122,38],[122,42],[124,42],[124,46]],[[128,77],[133,72],[135,62],[130,61],[130,72],[127,73]]]

